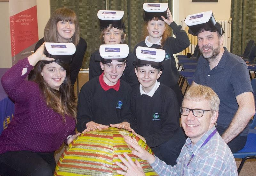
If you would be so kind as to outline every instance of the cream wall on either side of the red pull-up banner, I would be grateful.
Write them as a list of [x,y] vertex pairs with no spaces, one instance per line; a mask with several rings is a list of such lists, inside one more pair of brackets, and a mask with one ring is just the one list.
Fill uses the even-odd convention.
[[[44,26],[50,18],[50,0],[36,0],[38,37],[44,37]],[[12,67],[9,2],[0,2],[2,32],[0,34],[0,68]]]

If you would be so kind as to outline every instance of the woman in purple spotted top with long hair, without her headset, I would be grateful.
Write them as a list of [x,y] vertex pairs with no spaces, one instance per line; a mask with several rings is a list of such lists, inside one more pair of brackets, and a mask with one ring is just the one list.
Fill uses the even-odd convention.
[[[14,117],[0,136],[2,176],[52,176],[54,151],[77,137],[76,97],[69,66],[43,52],[44,44],[12,66],[1,80],[15,101]],[[36,78],[26,81],[35,65]]]

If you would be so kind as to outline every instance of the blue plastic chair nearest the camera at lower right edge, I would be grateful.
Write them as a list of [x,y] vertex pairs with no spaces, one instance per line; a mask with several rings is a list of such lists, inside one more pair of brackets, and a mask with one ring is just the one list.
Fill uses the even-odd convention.
[[[256,99],[256,79],[252,79],[251,81],[252,89],[254,91],[254,101]],[[247,159],[255,159],[256,158],[256,114],[254,115],[253,119],[249,122],[250,130],[246,140],[246,144],[244,148],[236,153],[233,153],[234,158],[242,158],[242,162],[239,165],[237,172],[241,171],[245,160]]]

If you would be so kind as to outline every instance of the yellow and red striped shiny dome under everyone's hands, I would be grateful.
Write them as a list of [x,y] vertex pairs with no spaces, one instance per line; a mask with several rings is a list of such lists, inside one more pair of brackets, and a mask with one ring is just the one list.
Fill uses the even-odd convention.
[[157,175],[147,161],[132,154],[133,148],[124,142],[123,136],[135,137],[142,148],[153,154],[143,140],[127,130],[109,127],[90,131],[82,133],[66,147],[57,163],[54,176],[117,176],[119,174],[116,171],[122,170],[115,164],[116,161],[122,163],[117,155],[124,157],[124,152],[133,161],[139,161],[147,176]]

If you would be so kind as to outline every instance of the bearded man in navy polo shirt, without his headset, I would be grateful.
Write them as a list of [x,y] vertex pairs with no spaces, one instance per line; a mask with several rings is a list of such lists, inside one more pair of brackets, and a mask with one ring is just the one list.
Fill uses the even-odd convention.
[[217,131],[232,153],[241,150],[247,139],[248,122],[255,114],[253,90],[249,70],[239,56],[222,46],[224,33],[216,22],[214,28],[205,27],[191,34],[197,35],[200,56],[192,86],[209,86],[220,98]]

